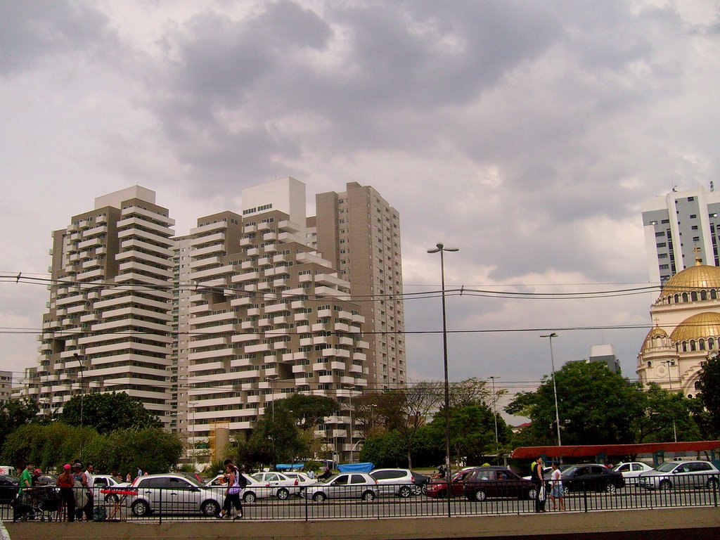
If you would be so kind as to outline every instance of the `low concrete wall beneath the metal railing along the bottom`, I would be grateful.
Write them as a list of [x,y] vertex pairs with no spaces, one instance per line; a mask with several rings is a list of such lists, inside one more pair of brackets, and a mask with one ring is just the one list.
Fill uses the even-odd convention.
[[683,540],[720,537],[720,508],[658,508],[592,513],[521,516],[364,519],[328,521],[175,521],[170,523],[6,523],[12,540],[74,539],[272,539],[405,540],[476,539],[498,536],[516,540],[539,537],[583,539],[642,538]]

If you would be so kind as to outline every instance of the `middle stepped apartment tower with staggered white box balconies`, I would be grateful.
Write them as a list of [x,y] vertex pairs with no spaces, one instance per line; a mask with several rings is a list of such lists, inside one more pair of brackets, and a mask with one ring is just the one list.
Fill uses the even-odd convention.
[[[307,246],[304,215],[293,222],[275,210],[284,207],[274,198],[278,182],[297,181],[272,183],[266,198],[257,186],[256,198],[243,190],[242,217],[204,217],[190,232],[191,441],[220,426],[247,431],[292,392],[347,403],[367,384],[369,343],[359,305],[347,300],[350,284]],[[289,192],[304,199],[304,185],[301,195]],[[326,449],[343,459],[360,436],[348,433],[341,411],[318,428]]]

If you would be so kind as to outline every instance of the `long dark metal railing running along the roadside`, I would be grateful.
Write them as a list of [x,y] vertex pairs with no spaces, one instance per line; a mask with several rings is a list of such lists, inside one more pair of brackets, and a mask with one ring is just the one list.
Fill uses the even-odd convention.
[[[677,480],[677,479],[675,479]],[[658,482],[657,487],[629,484],[617,489],[604,486],[578,487],[562,498],[564,510],[591,512],[718,506],[718,480],[706,475],[684,476],[682,482]],[[323,484],[292,490],[287,498],[278,498],[251,487],[240,493],[242,518],[257,521],[310,521],[343,518],[411,518],[420,516],[470,516],[490,514],[523,514],[536,511],[534,490],[513,487],[512,482],[487,482],[487,485],[449,485],[453,496],[431,497],[402,485],[345,485],[331,491]],[[464,489],[463,489],[464,487]],[[477,490],[482,489],[481,495]],[[566,490],[567,491],[567,490]],[[0,519],[3,521],[177,521],[215,520],[225,502],[224,487],[189,487],[150,489],[122,487],[115,490],[68,488],[60,492],[54,486],[36,487],[17,496],[17,488],[0,492]],[[276,491],[275,491],[276,493]],[[549,490],[548,490],[549,495]],[[285,496],[284,494],[282,495]],[[79,506],[84,505],[82,508]],[[548,512],[560,511],[560,501],[545,501]],[[554,510],[554,508],[557,508]],[[230,510],[236,516],[237,510]]]

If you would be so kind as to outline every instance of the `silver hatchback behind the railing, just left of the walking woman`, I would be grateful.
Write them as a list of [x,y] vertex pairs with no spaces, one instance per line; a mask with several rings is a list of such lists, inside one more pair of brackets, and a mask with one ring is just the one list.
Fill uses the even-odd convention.
[[209,490],[194,476],[185,474],[148,474],[138,477],[130,485],[136,495],[128,495],[125,504],[133,516],[150,513],[202,513],[217,516],[222,497],[217,490]]

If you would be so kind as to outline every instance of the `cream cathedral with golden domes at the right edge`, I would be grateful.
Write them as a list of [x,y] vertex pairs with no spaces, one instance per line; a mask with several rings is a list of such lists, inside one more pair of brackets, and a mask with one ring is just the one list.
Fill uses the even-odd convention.
[[654,326],[637,355],[640,382],[695,397],[701,363],[720,354],[720,267],[696,258],[663,284],[650,316]]

